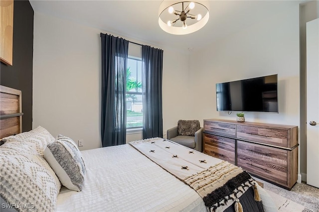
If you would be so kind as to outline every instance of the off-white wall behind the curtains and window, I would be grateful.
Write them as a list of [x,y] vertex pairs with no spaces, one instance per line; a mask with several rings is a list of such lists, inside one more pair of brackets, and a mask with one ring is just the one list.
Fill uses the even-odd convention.
[[[101,147],[101,38],[103,30],[34,13],[33,128]],[[119,35],[115,35],[119,36]],[[150,43],[125,39],[154,46]],[[163,47],[163,129],[188,112],[188,55]],[[187,72],[187,71],[186,71]],[[141,139],[131,134],[127,140]]]

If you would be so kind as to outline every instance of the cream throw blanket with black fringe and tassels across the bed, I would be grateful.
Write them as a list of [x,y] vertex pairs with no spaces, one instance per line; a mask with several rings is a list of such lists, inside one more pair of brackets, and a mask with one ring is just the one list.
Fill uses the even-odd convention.
[[[151,138],[130,144],[193,188],[211,212],[222,212],[234,202],[235,211],[242,211],[238,198],[256,183],[238,166],[169,140]],[[255,186],[255,200],[260,201],[256,190]]]

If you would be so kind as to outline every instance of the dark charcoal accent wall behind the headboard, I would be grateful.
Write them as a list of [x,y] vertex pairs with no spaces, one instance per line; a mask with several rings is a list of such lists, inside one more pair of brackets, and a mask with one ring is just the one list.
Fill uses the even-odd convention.
[[0,66],[0,84],[22,91],[23,132],[32,129],[33,15],[28,0],[14,0],[13,65]]

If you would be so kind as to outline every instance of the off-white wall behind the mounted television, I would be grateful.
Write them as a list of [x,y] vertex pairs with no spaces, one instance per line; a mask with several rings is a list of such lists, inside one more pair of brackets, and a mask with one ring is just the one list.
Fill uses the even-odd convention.
[[[279,113],[245,112],[246,121],[300,124],[299,5],[225,37],[191,56],[192,115],[236,120],[216,111],[216,83],[278,74]],[[198,109],[200,108],[200,109]]]

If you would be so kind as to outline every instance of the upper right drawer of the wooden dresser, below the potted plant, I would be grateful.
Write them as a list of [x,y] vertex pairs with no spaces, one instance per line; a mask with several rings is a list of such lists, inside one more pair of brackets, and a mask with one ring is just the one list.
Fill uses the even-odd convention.
[[289,132],[286,129],[237,125],[237,138],[272,144],[282,147],[291,147],[288,144]]

